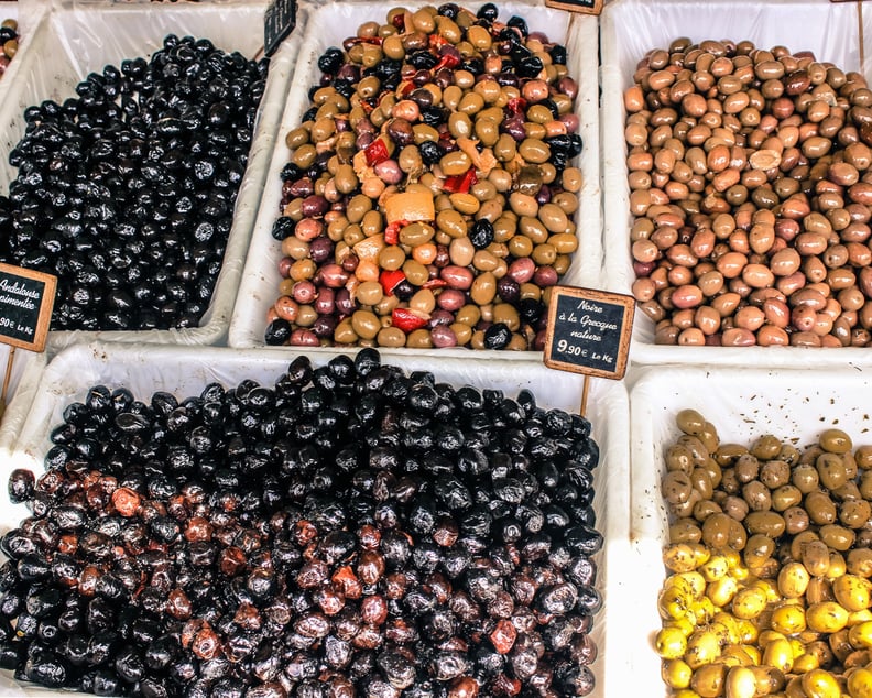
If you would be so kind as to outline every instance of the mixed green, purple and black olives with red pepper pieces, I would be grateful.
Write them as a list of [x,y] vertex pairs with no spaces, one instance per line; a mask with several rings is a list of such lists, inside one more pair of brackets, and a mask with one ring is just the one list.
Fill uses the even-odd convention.
[[578,246],[566,48],[446,3],[394,8],[318,67],[286,138],[266,343],[542,349]]

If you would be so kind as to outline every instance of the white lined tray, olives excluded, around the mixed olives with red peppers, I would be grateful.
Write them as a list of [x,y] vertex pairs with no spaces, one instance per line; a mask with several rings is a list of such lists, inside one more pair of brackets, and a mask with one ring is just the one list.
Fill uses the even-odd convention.
[[[425,3],[419,0],[399,2],[397,7],[417,9]],[[459,2],[458,4],[476,10],[482,2]],[[244,275],[239,287],[233,315],[230,320],[228,345],[231,347],[262,347],[266,329],[266,312],[279,297],[279,261],[282,259],[281,244],[273,239],[273,222],[281,214],[282,167],[290,162],[292,151],[285,144],[285,135],[301,123],[303,113],[309,108],[308,89],[317,85],[321,73],[318,57],[330,46],[341,46],[342,41],[353,36],[357,28],[366,21],[384,22],[391,4],[379,2],[337,2],[328,4],[309,18],[306,40],[301,48],[299,62],[291,83],[287,105],[282,116],[281,129],[276,140],[275,154],[264,184],[261,208],[251,237]],[[578,194],[579,207],[576,214],[579,247],[574,254],[573,264],[560,280],[570,286],[596,285],[602,264],[601,225],[599,188],[599,84],[596,66],[598,62],[598,21],[596,17],[581,15],[554,10],[543,2],[497,2],[500,20],[506,21],[513,14],[524,18],[531,31],[545,32],[551,41],[564,43],[567,51],[569,75],[578,84],[576,113],[579,116],[578,133],[584,148],[577,166],[581,170],[585,184]],[[415,353],[438,353],[443,356],[469,356],[469,349],[388,349],[385,356]],[[477,352],[481,353],[481,352]],[[493,353],[493,352],[484,352]],[[541,352],[502,351],[500,358],[538,359]]]

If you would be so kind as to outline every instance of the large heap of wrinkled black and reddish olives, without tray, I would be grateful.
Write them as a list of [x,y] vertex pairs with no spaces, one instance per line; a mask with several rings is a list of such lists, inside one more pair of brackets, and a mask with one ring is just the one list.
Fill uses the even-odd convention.
[[178,401],[91,388],[0,543],[0,666],[98,695],[584,696],[590,424],[373,349]]

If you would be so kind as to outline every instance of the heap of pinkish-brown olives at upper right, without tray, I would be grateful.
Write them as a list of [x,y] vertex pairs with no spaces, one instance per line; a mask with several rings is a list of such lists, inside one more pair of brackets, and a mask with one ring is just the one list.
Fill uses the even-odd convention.
[[624,92],[633,295],[671,345],[872,343],[872,90],[687,39]]

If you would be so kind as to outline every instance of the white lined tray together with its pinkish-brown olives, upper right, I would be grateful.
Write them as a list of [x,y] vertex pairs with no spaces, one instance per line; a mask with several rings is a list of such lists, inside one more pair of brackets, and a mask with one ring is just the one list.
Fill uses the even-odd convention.
[[[868,301],[857,13],[689,4],[619,1],[602,20],[603,284],[640,301],[633,356],[862,361],[850,350],[864,345]],[[821,343],[849,350],[745,351]]]

